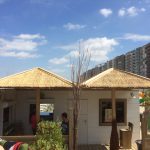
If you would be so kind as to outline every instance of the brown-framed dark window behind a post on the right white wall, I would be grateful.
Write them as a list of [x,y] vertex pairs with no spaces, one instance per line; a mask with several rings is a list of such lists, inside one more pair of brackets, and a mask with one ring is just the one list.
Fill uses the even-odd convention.
[[[119,125],[125,125],[127,118],[126,99],[116,100],[116,119]],[[99,100],[99,125],[111,125],[112,120],[112,100]]]

